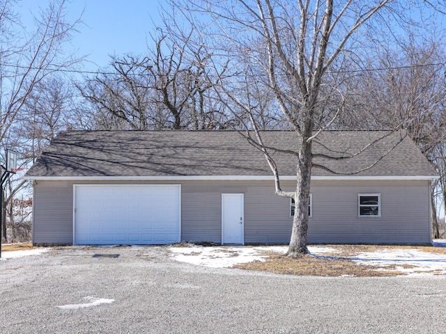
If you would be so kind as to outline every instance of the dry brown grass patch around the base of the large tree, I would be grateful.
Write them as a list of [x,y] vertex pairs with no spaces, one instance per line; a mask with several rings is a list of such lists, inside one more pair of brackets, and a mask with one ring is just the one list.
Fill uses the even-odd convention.
[[[238,264],[238,269],[254,271],[268,271],[270,273],[285,273],[299,276],[396,276],[401,275],[401,268],[413,268],[408,264],[367,266],[357,264],[346,257],[355,257],[360,253],[375,251],[408,249],[420,250],[427,253],[445,254],[446,248],[433,246],[375,246],[375,245],[330,245],[333,248],[330,253],[323,256],[303,255],[298,258],[268,253],[265,262],[250,262]],[[330,258],[331,257],[331,258]]]

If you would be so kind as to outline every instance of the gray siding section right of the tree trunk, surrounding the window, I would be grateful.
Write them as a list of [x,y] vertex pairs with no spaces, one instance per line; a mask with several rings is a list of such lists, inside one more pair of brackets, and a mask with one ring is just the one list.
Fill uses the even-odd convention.
[[[427,244],[427,181],[313,182],[310,243]],[[359,193],[380,193],[380,217],[358,217]]]

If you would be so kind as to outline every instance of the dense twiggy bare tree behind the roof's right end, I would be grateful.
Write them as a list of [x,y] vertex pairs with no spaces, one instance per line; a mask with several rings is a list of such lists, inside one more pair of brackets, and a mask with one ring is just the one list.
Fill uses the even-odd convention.
[[[446,140],[445,43],[439,38],[401,38],[399,45],[369,52],[366,61],[379,70],[361,72],[349,83],[348,113],[335,122],[337,129],[406,129],[422,153],[440,173],[444,166],[442,148]],[[377,61],[378,60],[378,61]],[[444,155],[444,154],[443,154]],[[440,184],[443,184],[440,180]],[[441,196],[432,189],[432,203]],[[436,207],[432,207],[433,237],[440,237]]]

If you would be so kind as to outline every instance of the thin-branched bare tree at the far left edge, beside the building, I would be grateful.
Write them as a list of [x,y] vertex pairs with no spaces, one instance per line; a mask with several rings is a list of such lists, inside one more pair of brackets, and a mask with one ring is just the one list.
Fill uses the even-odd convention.
[[[0,1],[0,141],[4,159],[6,148],[20,150],[17,129],[26,113],[26,103],[36,93],[41,82],[56,72],[68,69],[78,60],[62,47],[70,40],[79,20],[67,19],[66,1],[52,0],[46,9],[34,17],[34,29],[24,29],[15,12],[17,1]],[[20,156],[22,158],[22,156]],[[29,161],[22,160],[22,164]],[[24,182],[7,186],[3,213],[8,202]],[[2,214],[4,217],[4,214]],[[6,219],[2,220],[6,239]]]

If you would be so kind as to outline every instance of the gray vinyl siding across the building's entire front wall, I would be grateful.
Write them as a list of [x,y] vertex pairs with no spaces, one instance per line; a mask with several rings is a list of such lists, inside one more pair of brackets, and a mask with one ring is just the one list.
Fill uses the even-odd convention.
[[[181,184],[181,240],[222,241],[222,193],[244,194],[245,244],[286,244],[290,200],[272,181],[58,182],[34,187],[33,242],[72,243],[73,184]],[[294,182],[282,182],[293,190]],[[428,181],[313,181],[309,243],[427,244],[431,241]],[[357,194],[380,193],[381,216],[358,217]]]

